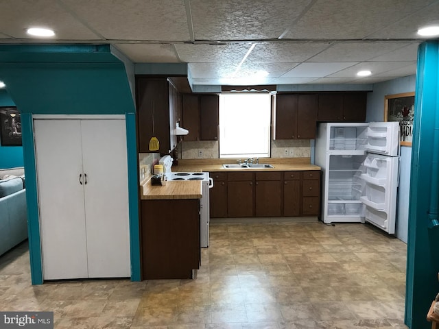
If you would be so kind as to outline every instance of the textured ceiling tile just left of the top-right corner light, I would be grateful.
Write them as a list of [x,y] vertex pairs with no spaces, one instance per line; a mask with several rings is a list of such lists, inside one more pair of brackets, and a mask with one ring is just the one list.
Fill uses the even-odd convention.
[[318,0],[285,38],[366,38],[433,0]]

